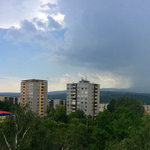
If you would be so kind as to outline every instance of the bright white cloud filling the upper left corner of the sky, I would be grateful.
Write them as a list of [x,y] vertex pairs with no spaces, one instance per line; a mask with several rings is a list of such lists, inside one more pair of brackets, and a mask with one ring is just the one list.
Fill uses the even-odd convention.
[[47,20],[47,15],[42,12],[41,6],[47,3],[56,3],[56,0],[1,0],[0,28],[20,27],[20,21],[38,17]]

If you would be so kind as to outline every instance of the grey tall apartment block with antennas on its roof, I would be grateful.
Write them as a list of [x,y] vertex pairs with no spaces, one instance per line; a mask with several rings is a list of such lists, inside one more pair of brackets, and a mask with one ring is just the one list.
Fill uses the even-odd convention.
[[67,114],[80,109],[93,118],[99,112],[100,85],[82,79],[79,83],[67,84]]

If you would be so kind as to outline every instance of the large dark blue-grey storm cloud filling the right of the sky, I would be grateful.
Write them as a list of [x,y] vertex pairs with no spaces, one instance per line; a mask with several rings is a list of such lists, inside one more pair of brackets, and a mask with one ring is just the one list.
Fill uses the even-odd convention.
[[130,76],[132,88],[150,92],[150,1],[60,0],[58,6],[69,26],[66,46],[56,51],[64,63]]

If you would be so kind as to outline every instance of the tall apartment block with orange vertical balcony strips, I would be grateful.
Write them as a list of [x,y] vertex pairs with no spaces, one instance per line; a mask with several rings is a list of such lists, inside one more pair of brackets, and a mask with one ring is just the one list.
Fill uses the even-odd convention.
[[47,80],[22,80],[21,81],[21,105],[29,105],[29,109],[44,117],[47,101]]

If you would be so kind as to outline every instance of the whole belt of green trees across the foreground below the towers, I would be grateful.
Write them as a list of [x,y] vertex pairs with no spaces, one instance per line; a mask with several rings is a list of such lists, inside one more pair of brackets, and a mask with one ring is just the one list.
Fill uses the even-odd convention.
[[[132,102],[131,102],[131,101]],[[121,103],[122,101],[122,103]],[[131,106],[132,105],[132,106]],[[150,120],[140,101],[112,100],[94,120],[83,111],[66,115],[47,107],[47,119],[16,106],[0,124],[2,150],[137,150],[150,147]],[[25,113],[26,112],[26,113]]]

